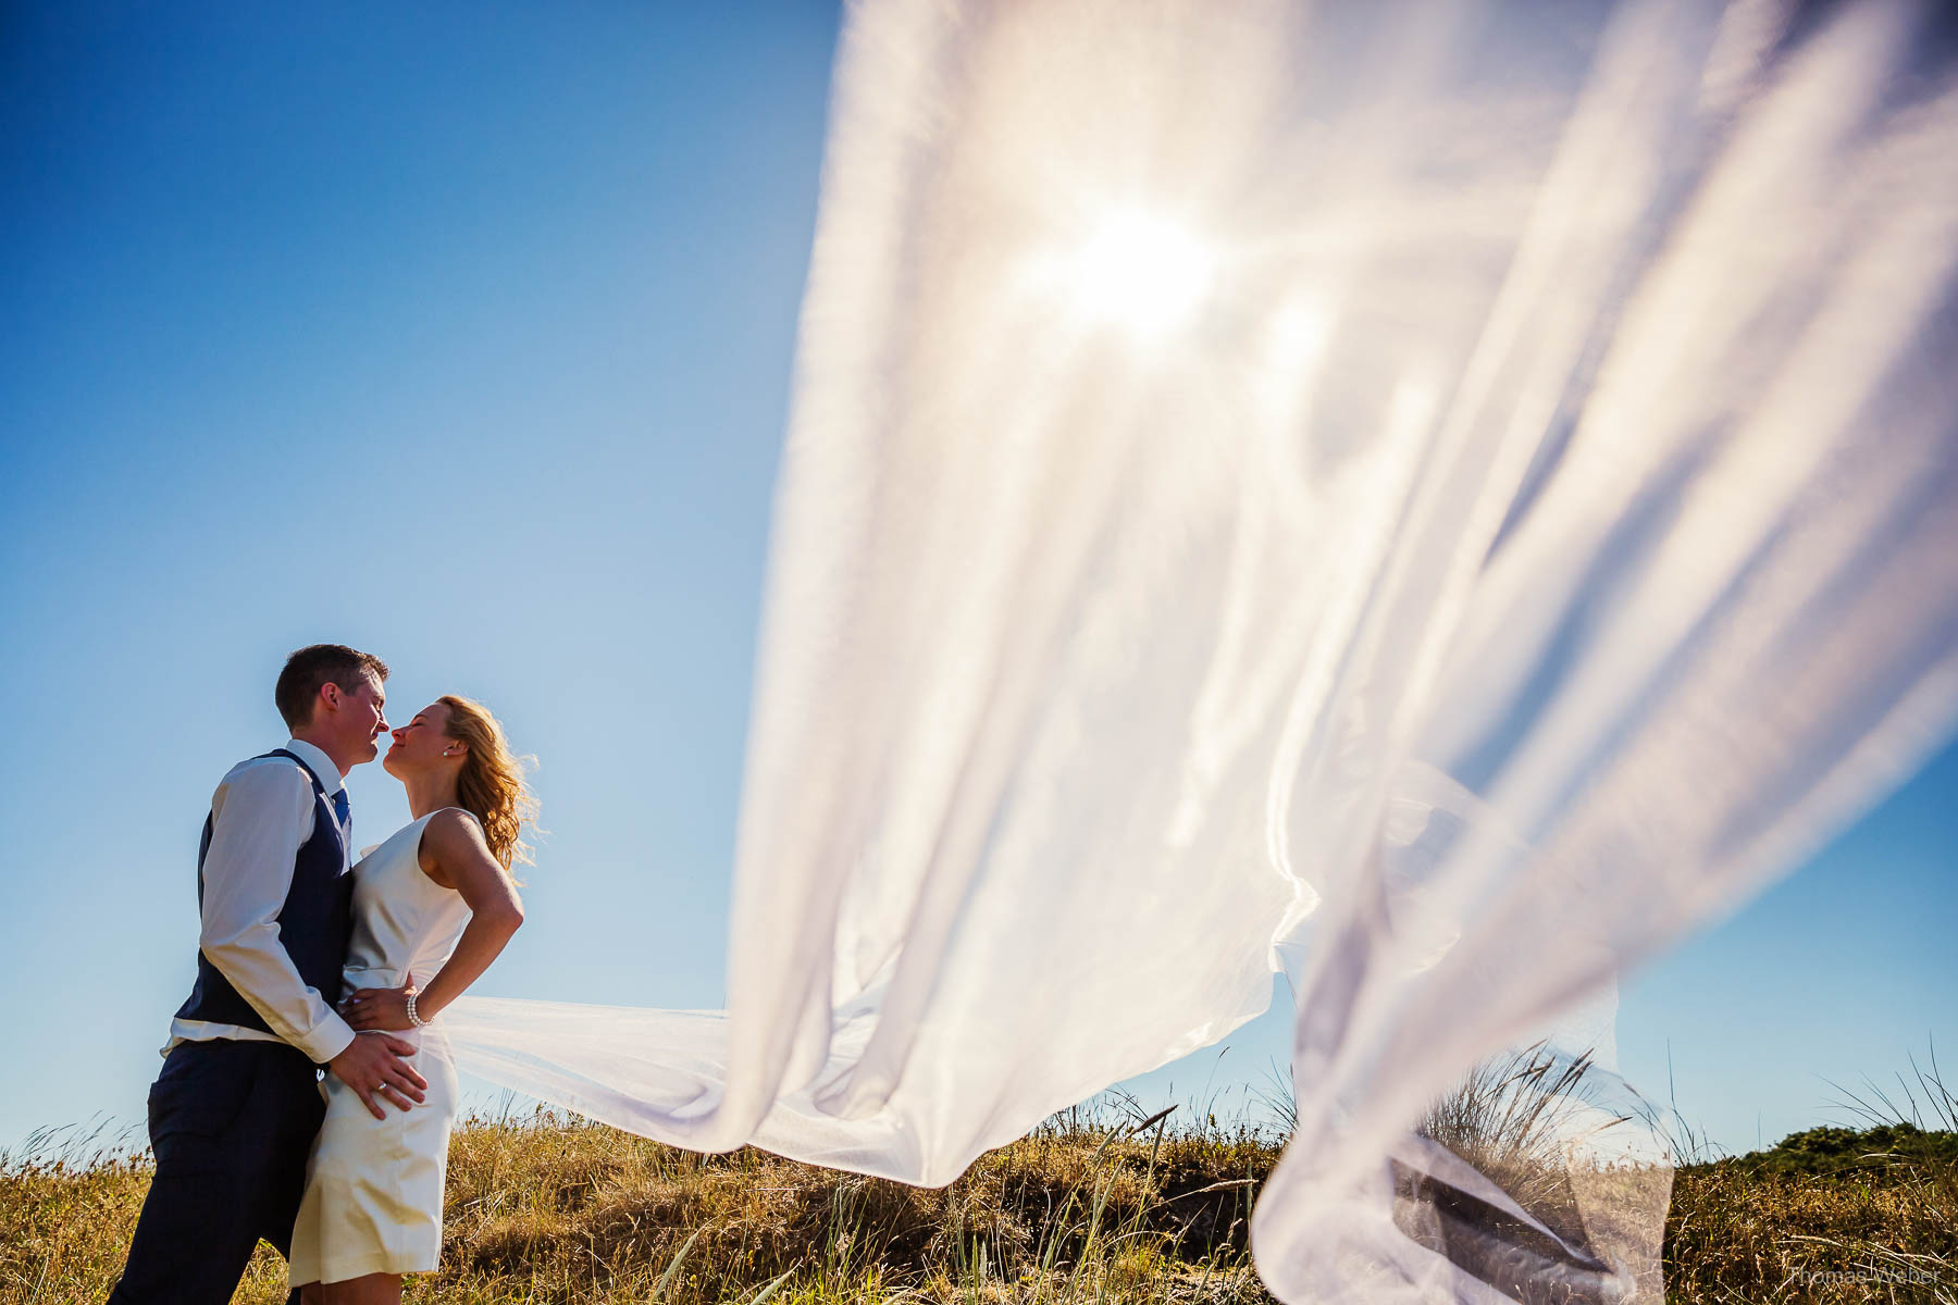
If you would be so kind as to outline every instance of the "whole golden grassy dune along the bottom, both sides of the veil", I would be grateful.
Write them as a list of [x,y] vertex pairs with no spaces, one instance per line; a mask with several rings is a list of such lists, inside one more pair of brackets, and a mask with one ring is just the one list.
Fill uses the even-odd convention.
[[[452,1145],[443,1272],[411,1301],[1267,1301],[1245,1244],[1279,1139],[1061,1117],[946,1190],[548,1115]],[[100,1301],[141,1154],[0,1162],[0,1303]],[[260,1246],[239,1301],[282,1299]],[[1678,1172],[1670,1301],[1958,1299],[1958,1139],[1817,1129]]]

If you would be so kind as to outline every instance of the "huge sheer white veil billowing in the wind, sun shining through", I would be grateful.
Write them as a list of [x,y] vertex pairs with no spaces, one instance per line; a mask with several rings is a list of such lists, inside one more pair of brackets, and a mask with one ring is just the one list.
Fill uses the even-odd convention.
[[1952,45],[1888,0],[856,4],[726,1010],[466,1000],[462,1064],[944,1184],[1286,972],[1277,1295],[1658,1299],[1608,1015],[1517,1053],[1535,1195],[1414,1125],[1952,724]]

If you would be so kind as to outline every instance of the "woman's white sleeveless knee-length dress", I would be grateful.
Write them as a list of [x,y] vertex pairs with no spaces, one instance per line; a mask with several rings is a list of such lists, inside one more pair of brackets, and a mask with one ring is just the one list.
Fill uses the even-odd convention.
[[[470,908],[460,892],[421,873],[421,832],[437,814],[403,826],[354,865],[347,992],[397,988],[409,972],[427,984],[454,953]],[[409,1064],[429,1080],[427,1102],[409,1111],[384,1103],[388,1117],[376,1119],[352,1088],[327,1074],[327,1117],[292,1229],[294,1283],[427,1274],[441,1262],[456,1070],[439,1019],[396,1037],[417,1045]]]

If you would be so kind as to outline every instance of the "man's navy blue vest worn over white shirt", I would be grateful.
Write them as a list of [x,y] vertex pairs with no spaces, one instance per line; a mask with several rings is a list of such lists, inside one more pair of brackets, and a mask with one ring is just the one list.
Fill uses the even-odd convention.
[[[292,888],[278,908],[278,941],[292,957],[294,968],[309,988],[317,988],[327,1006],[341,1000],[341,968],[347,965],[347,943],[354,927],[354,877],[347,869],[347,853],[341,849],[341,832],[333,812],[323,798],[325,785],[305,765],[284,747],[264,753],[264,757],[286,757],[313,781],[313,832],[292,863]],[[262,757],[260,757],[262,759]],[[211,818],[204,818],[204,839],[198,843],[198,908],[204,908],[204,857],[211,851]],[[206,1019],[211,1023],[235,1023],[245,1029],[270,1033],[251,1002],[239,996],[231,980],[198,953],[198,986],[190,990],[190,1000],[176,1012],[178,1019]]]

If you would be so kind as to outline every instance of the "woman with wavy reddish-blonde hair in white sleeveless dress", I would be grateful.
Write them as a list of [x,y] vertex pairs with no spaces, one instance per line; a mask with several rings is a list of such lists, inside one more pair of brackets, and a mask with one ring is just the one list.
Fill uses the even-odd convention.
[[[429,1094],[376,1117],[339,1080],[321,1086],[327,1119],[290,1260],[307,1305],[399,1305],[401,1276],[437,1268],[456,1070],[431,1021],[523,923],[509,867],[529,861],[517,833],[536,802],[495,718],[468,698],[437,698],[394,732],[382,767],[407,788],[415,820],[354,867],[341,1010],[354,1029],[415,1043]],[[415,974],[435,976],[417,990]]]

